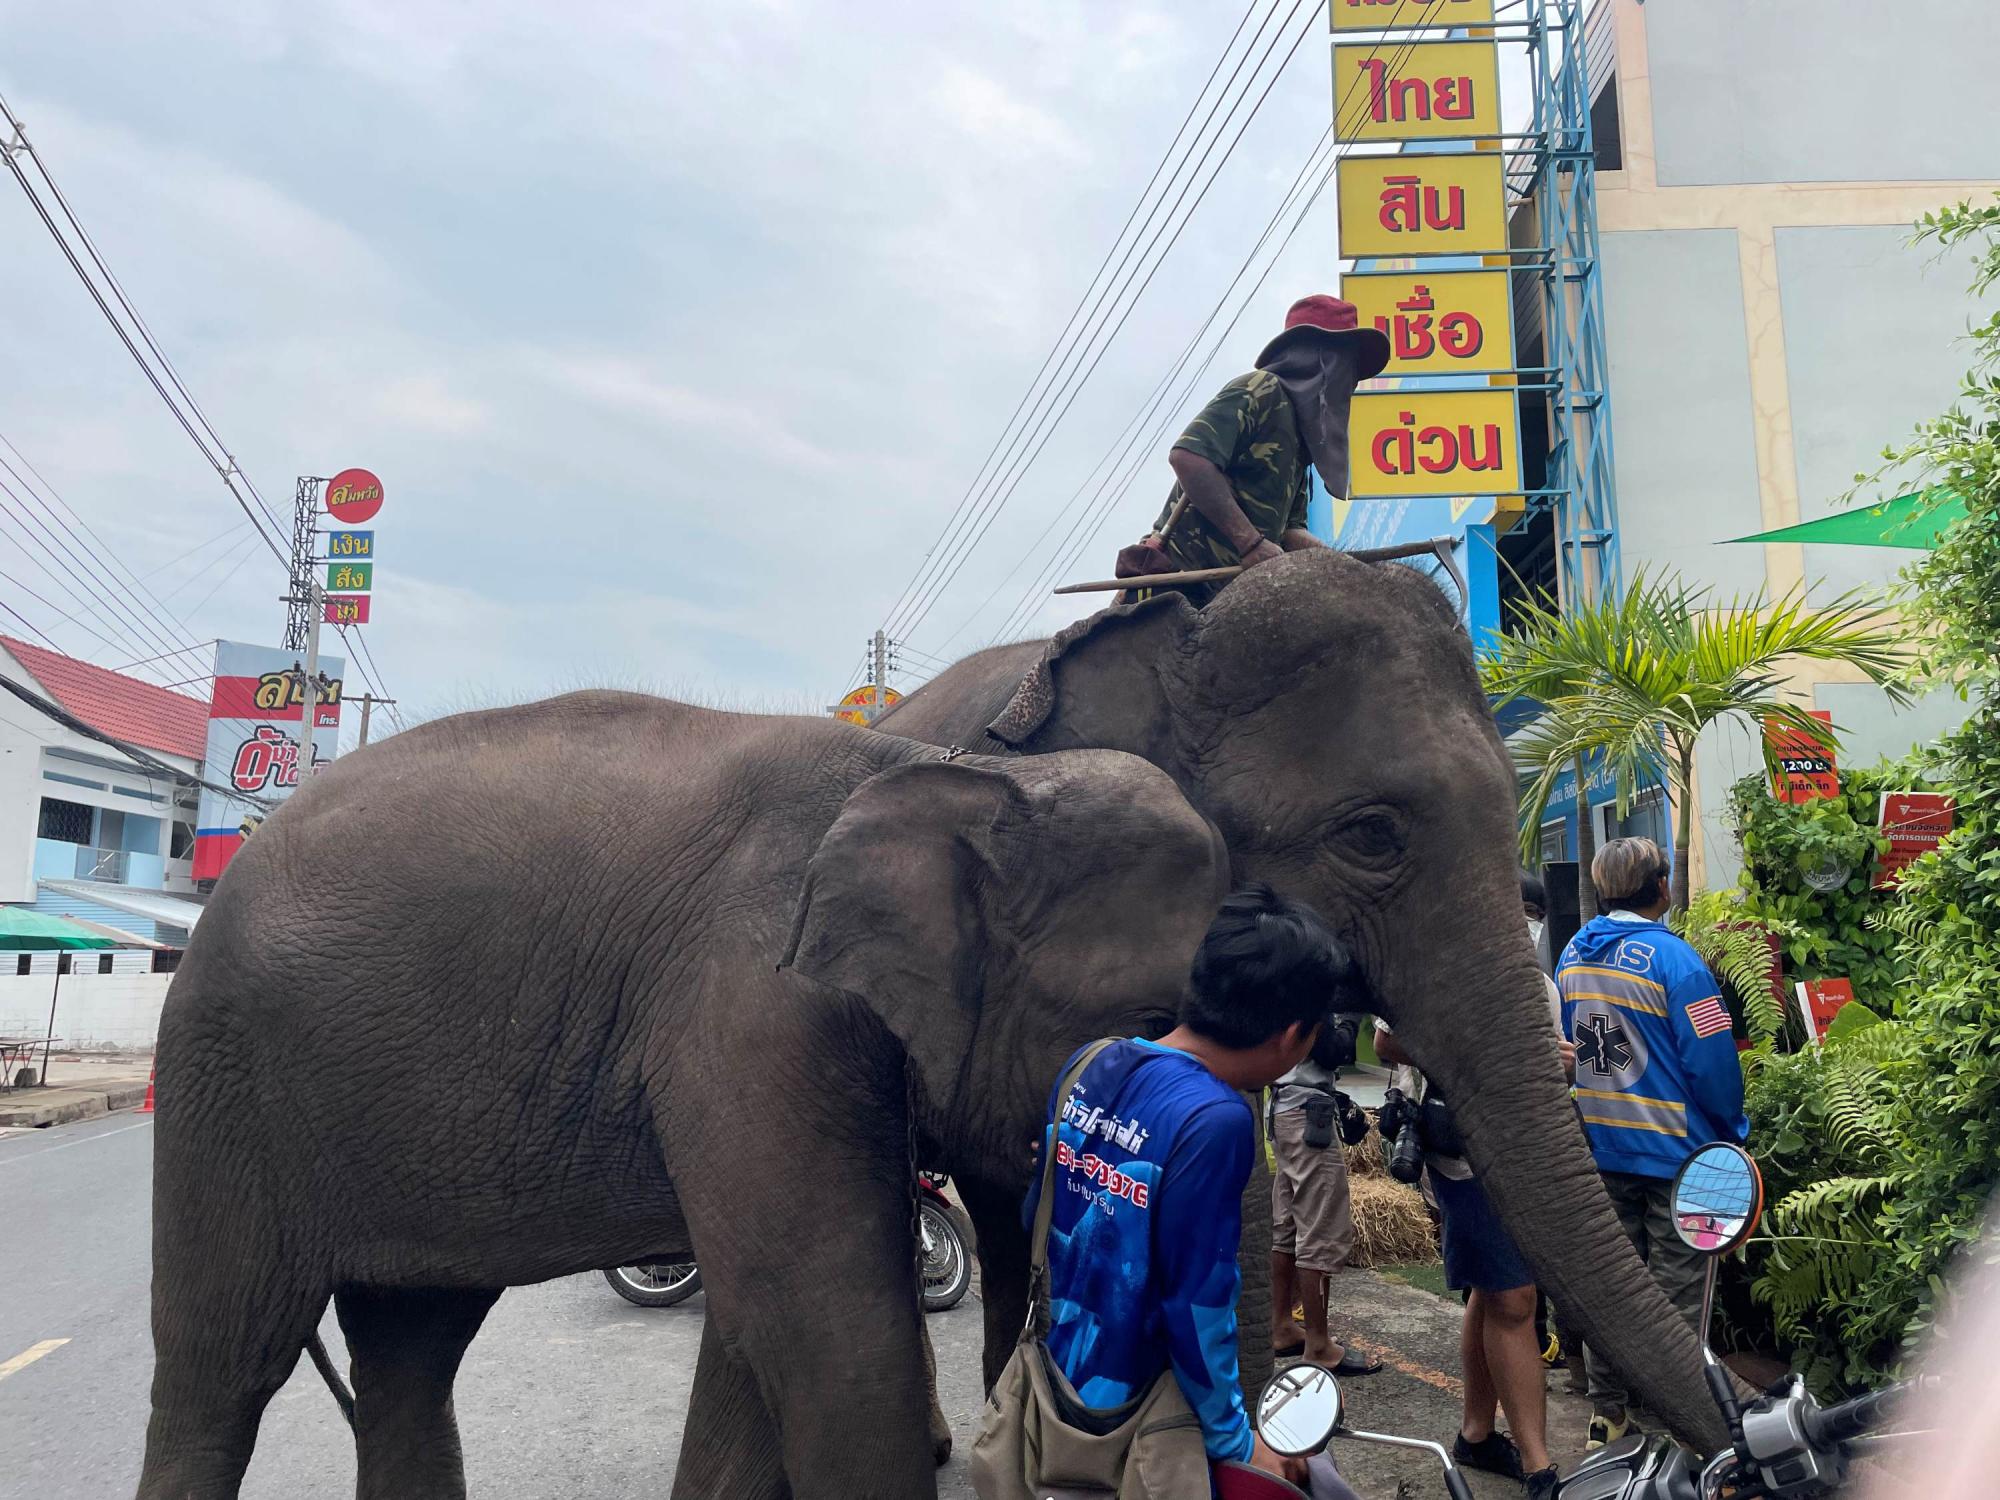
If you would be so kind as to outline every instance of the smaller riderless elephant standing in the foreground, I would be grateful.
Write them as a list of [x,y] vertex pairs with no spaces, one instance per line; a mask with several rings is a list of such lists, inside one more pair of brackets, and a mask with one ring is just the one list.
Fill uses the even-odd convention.
[[462,1496],[502,1288],[662,1254],[708,1292],[676,1496],[934,1496],[912,1156],[1026,1184],[1062,1060],[1170,1028],[1226,888],[1114,750],[592,692],[344,756],[166,1000],[142,1500],[238,1492],[328,1298],[358,1494]]

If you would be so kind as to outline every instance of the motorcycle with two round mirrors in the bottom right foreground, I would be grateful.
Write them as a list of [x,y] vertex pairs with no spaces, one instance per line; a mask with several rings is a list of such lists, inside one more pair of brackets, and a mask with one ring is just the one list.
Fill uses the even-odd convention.
[[[1764,1180],[1756,1160],[1726,1142],[1704,1146],[1674,1178],[1670,1210],[1682,1242],[1708,1256],[1702,1294],[1702,1328],[1708,1328],[1716,1264],[1750,1238],[1764,1210]],[[1870,1438],[1904,1396],[1934,1384],[1930,1378],[1906,1380],[1820,1406],[1794,1374],[1742,1404],[1728,1370],[1706,1340],[1702,1362],[1708,1392],[1730,1432],[1728,1448],[1704,1460],[1664,1434],[1634,1432],[1572,1468],[1558,1484],[1556,1500],[1812,1500],[1832,1494],[1846,1480],[1856,1446],[1888,1436],[1916,1436]],[[1472,1500],[1466,1476],[1442,1444],[1350,1428],[1340,1382],[1318,1364],[1294,1364],[1272,1378],[1258,1398],[1256,1430],[1272,1452],[1294,1458],[1320,1454],[1330,1438],[1422,1448],[1444,1468],[1446,1494],[1452,1500]],[[1316,1486],[1314,1494],[1318,1492]],[[1298,1486],[1248,1464],[1220,1466],[1216,1494],[1220,1500],[1306,1500]]]

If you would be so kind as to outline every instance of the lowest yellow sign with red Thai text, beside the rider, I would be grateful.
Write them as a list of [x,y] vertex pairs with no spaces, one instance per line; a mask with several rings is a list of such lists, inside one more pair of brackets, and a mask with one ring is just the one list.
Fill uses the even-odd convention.
[[1354,398],[1348,498],[1514,494],[1520,408],[1512,390],[1386,390]]

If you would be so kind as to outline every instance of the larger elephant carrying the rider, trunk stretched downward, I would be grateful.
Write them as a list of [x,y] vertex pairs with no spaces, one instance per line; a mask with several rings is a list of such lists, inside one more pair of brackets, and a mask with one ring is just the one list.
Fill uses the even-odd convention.
[[[1128,750],[1172,776],[1222,832],[1234,878],[1268,880],[1346,936],[1378,1012],[1452,1100],[1508,1230],[1590,1346],[1704,1452],[1726,1442],[1700,1344],[1618,1228],[1574,1126],[1520,920],[1514,770],[1428,578],[1292,552],[1206,610],[1164,594],[970,656],[878,728],[1030,760]],[[980,1232],[992,1376],[1022,1320],[1022,1236],[1012,1184],[960,1188]],[[1270,1308],[1268,1198],[1244,1224],[1250,1328]],[[1266,1348],[1246,1332],[1246,1376]]]

